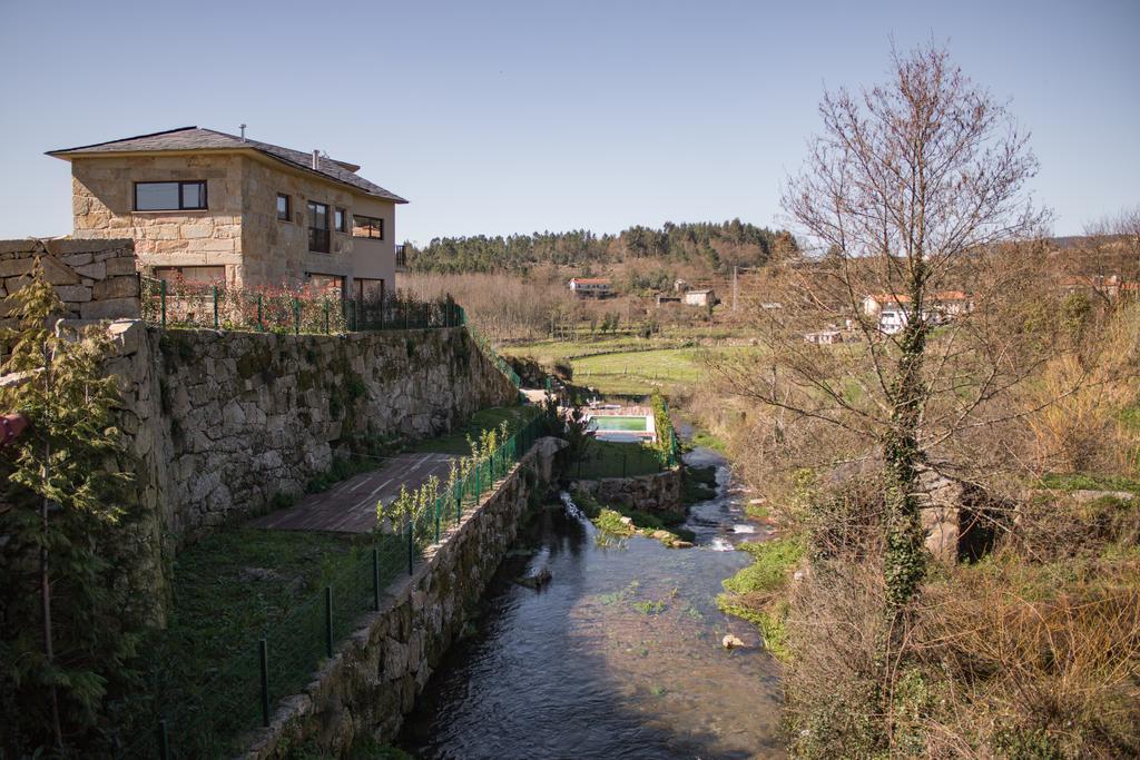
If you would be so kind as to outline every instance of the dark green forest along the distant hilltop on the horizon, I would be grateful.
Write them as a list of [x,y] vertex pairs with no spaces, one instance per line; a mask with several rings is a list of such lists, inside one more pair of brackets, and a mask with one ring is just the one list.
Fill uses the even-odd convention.
[[733,219],[722,223],[666,222],[660,229],[637,226],[617,235],[595,235],[589,230],[507,237],[479,235],[434,238],[423,248],[406,246],[408,268],[417,272],[522,273],[532,267],[555,264],[586,273],[593,268],[646,259],[714,275],[725,273],[733,265],[763,264],[777,252],[795,251],[796,242],[784,230],[773,231]]

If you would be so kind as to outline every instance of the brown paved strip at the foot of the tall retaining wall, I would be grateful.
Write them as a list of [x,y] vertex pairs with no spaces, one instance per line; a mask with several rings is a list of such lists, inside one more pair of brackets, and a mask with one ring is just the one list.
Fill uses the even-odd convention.
[[380,469],[342,481],[321,493],[302,497],[292,507],[258,517],[253,528],[279,530],[337,531],[367,533],[376,525],[376,501],[388,504],[400,492],[410,491],[435,475],[446,482],[451,469],[450,453],[401,453],[384,461]]

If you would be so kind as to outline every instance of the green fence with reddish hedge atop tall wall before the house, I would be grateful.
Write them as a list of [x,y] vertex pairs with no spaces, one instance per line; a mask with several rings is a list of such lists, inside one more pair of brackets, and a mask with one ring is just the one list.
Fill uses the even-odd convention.
[[324,334],[458,327],[450,299],[342,299],[339,291],[246,289],[140,277],[142,319],[162,327]]

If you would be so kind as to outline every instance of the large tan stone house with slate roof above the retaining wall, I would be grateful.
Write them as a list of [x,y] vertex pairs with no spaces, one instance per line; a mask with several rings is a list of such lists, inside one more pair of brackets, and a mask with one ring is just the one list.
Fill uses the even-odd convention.
[[73,237],[133,238],[161,279],[394,293],[407,201],[356,164],[197,126],[48,155],[72,165]]

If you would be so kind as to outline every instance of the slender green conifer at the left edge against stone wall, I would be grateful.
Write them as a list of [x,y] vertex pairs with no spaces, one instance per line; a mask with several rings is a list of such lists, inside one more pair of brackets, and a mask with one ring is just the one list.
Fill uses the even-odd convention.
[[11,506],[0,514],[8,537],[0,700],[19,705],[0,705],[18,716],[0,753],[19,757],[36,745],[66,753],[67,742],[97,722],[108,680],[122,676],[136,643],[120,597],[129,563],[100,550],[128,544],[107,532],[131,512],[122,496],[131,475],[122,472],[113,420],[115,379],[101,373],[106,332],[68,335],[52,324],[64,309],[39,261],[32,281],[8,300],[18,328],[5,330],[11,354],[3,373],[19,381],[0,387],[0,408],[21,411],[30,426],[0,458],[0,499]]

